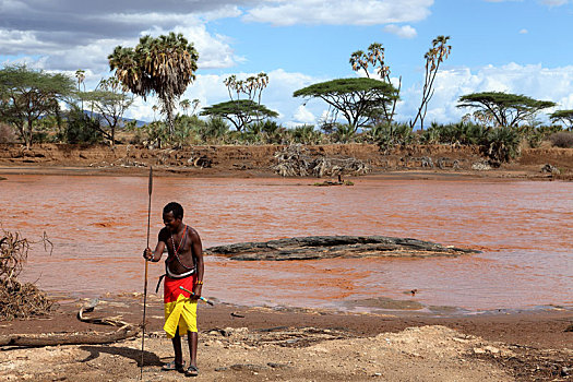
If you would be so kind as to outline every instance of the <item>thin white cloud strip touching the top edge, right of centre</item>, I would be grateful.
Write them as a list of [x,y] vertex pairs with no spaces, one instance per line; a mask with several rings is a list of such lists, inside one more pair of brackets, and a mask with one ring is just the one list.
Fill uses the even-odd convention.
[[266,0],[246,21],[273,25],[377,25],[425,20],[433,0]]

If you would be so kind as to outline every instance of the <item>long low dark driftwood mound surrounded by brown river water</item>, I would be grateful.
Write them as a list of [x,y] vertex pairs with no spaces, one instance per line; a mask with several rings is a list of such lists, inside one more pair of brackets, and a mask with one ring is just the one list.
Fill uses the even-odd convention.
[[205,254],[231,260],[320,260],[368,256],[458,256],[479,251],[385,236],[310,236],[207,248]]

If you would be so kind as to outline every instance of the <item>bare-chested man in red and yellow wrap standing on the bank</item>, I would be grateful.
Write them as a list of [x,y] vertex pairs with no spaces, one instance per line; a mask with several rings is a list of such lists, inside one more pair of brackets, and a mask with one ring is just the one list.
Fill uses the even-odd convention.
[[[163,370],[177,370],[188,377],[199,374],[196,367],[196,305],[203,287],[203,253],[199,234],[183,224],[183,207],[171,202],[163,210],[165,227],[159,231],[157,247],[152,252],[146,248],[143,256],[146,260],[158,262],[167,248],[165,261],[165,325],[167,337],[171,338],[175,350],[175,360],[164,365]],[[162,278],[164,277],[162,276]],[[160,283],[160,279],[159,279]],[[193,294],[180,289],[183,287]],[[189,343],[190,363],[184,368],[181,351],[181,336],[187,332]]]

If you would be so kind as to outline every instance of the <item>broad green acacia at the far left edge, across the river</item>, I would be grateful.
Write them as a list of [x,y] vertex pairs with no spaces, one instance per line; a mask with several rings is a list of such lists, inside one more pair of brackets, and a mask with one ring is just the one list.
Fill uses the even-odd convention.
[[0,119],[16,127],[26,148],[33,143],[34,123],[58,115],[58,100],[74,91],[74,81],[61,73],[45,73],[25,65],[0,70]]

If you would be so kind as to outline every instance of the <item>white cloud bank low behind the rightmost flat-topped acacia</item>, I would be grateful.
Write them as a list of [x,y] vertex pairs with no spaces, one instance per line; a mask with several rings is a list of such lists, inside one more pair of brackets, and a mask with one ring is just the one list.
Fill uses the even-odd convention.
[[[558,108],[573,108],[573,65],[544,68],[541,64],[509,63],[487,65],[478,70],[457,68],[442,70],[435,77],[435,93],[430,102],[426,121],[458,121],[469,110],[456,108],[457,99],[477,92],[506,92],[552,100]],[[421,97],[421,84],[402,94],[397,107],[398,120],[414,118]]]

